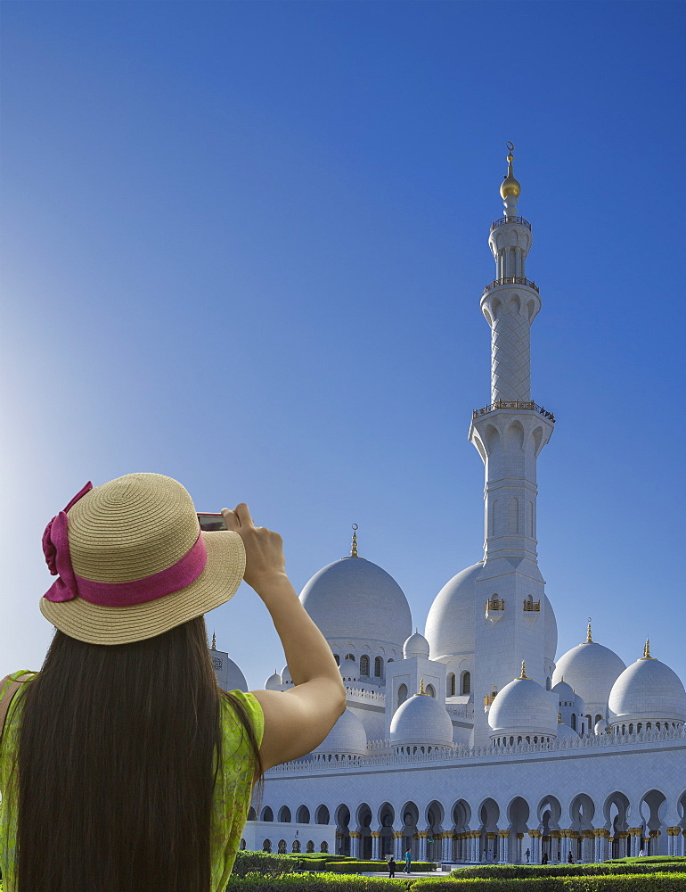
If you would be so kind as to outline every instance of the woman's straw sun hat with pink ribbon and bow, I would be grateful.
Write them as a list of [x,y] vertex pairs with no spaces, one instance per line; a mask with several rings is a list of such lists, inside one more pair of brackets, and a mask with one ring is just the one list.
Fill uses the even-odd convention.
[[45,560],[59,575],[40,600],[71,638],[152,638],[233,598],[245,571],[238,533],[200,532],[191,496],[161,474],[90,483],[53,517]]

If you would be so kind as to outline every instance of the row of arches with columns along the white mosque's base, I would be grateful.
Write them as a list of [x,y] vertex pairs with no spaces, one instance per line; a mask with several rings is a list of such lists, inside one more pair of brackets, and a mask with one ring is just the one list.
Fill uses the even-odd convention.
[[[266,805],[262,821],[290,821],[291,809]],[[443,863],[598,862],[625,855],[686,855],[686,790],[669,801],[659,789],[629,797],[578,793],[562,803],[545,796],[531,802],[517,796],[499,804],[487,797],[466,798],[445,806],[436,799],[402,805],[340,803],[334,808],[300,805],[292,810],[299,824],[336,825],[336,852],[359,858],[394,855],[407,848],[416,861]],[[528,853],[528,854],[527,854]]]

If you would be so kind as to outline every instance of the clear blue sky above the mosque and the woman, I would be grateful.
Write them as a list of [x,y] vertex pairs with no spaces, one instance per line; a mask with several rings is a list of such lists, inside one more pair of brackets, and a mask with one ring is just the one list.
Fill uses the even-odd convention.
[[[682,3],[3,4],[0,673],[51,627],[46,522],[181,480],[432,599],[478,560],[481,291],[505,141],[541,287],[539,554],[558,655],[684,654]],[[245,586],[208,615],[261,687]]]

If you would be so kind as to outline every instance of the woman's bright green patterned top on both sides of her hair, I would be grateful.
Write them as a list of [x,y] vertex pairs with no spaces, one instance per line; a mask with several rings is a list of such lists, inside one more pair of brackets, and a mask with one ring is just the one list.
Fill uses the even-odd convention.
[[[23,677],[30,681],[37,673],[17,672],[10,676],[11,681]],[[9,684],[9,682],[8,682]],[[4,690],[0,690],[0,698]],[[6,790],[12,774],[21,713],[21,698],[26,686],[17,691],[12,699],[9,713],[4,723],[2,745],[0,746],[0,869],[3,871],[4,892],[16,892],[14,871],[17,844],[17,814],[13,803],[6,797]],[[265,718],[262,707],[252,694],[233,690],[233,696],[241,701],[252,727],[257,743],[262,743]],[[241,843],[241,833],[248,816],[252,794],[253,770],[255,767],[249,740],[242,730],[233,706],[226,698],[221,699],[220,722],[222,727],[222,752],[224,764],[218,772],[215,797],[212,805],[212,883],[210,892],[223,892],[229,880]]]

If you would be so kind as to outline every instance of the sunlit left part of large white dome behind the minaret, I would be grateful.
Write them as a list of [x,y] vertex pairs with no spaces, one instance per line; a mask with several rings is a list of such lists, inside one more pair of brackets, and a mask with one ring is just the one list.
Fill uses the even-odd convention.
[[453,576],[434,599],[425,629],[433,659],[474,653],[475,583],[483,566],[483,561],[479,561]]

